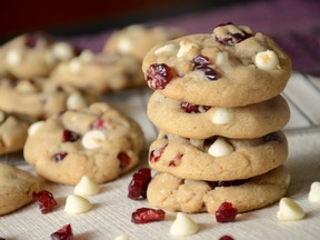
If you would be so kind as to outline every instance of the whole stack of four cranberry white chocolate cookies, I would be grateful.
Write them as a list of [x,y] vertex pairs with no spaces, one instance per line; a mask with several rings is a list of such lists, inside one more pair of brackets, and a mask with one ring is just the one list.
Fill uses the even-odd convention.
[[232,23],[153,47],[142,70],[156,90],[148,116],[159,128],[149,149],[157,171],[148,201],[183,212],[239,212],[271,204],[287,191],[290,118],[280,96],[290,58],[262,33]]

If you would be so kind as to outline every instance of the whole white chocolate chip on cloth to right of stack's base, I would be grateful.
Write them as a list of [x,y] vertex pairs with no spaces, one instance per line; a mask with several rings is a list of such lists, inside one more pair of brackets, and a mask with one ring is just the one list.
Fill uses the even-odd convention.
[[277,217],[281,221],[297,221],[304,218],[304,211],[293,200],[281,198]]

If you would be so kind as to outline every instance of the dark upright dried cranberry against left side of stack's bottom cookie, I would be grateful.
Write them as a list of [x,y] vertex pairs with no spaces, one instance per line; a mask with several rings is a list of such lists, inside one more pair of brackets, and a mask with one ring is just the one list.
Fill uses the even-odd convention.
[[128,187],[128,198],[142,200],[147,198],[147,188],[151,181],[151,169],[141,168],[134,172]]

